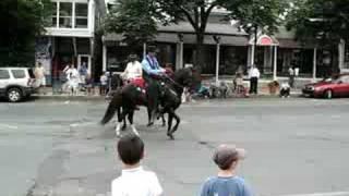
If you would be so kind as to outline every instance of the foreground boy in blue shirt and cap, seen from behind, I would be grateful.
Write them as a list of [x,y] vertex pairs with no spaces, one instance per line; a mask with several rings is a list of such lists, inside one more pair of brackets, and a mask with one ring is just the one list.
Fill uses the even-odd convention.
[[253,196],[245,181],[236,175],[239,160],[244,159],[245,151],[234,146],[221,145],[214,154],[218,166],[217,176],[212,176],[204,183],[201,196]]

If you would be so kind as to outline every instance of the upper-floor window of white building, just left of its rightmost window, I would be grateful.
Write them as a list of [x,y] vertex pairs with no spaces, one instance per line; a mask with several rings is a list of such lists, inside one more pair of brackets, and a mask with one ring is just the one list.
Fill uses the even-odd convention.
[[60,2],[59,3],[59,27],[71,28],[73,19],[73,3]]

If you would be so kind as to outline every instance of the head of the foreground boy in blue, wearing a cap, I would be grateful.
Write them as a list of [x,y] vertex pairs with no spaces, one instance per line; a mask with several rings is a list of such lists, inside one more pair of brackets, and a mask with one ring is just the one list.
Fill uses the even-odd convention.
[[216,149],[213,159],[220,170],[233,170],[238,161],[244,159],[244,149],[229,145],[220,145]]

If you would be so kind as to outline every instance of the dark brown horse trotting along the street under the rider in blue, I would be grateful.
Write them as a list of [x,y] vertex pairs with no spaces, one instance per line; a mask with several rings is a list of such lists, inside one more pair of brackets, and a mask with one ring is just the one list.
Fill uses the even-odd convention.
[[[147,81],[146,95],[144,95],[139,87],[132,84],[124,86],[113,94],[105,117],[100,123],[106,124],[107,122],[109,122],[118,111],[118,123],[116,126],[117,136],[120,135],[121,122],[127,117],[131,124],[132,131],[134,132],[134,134],[139,135],[133,124],[133,114],[137,105],[145,106],[147,108],[148,125],[154,124],[154,118],[156,115],[156,112],[158,112],[159,105],[161,105],[161,113],[169,113],[169,125],[171,125],[172,119],[178,118],[177,114],[173,115],[173,112],[181,102],[180,96],[183,91],[183,87],[191,86],[193,81],[193,73],[191,69],[179,70],[174,72],[173,78],[165,79],[166,84],[161,84],[161,82],[152,79],[151,77],[146,77],[145,79]],[[171,89],[168,89],[169,87],[171,87]],[[177,100],[178,98],[179,103]],[[169,110],[168,108],[170,108],[171,110]],[[171,112],[172,110],[173,112]],[[178,128],[178,124],[173,127],[174,131]],[[171,136],[171,133],[173,133],[174,131],[168,131],[168,135],[171,138],[173,138]]]

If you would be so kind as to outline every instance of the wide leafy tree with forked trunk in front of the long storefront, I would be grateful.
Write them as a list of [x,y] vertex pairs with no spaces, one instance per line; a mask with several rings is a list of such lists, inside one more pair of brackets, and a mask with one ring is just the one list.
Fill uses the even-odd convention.
[[[204,63],[204,58],[202,58],[204,35],[212,11],[218,7],[226,8],[231,12],[230,15],[233,19],[242,21],[245,15],[250,15],[248,12],[251,11],[250,8],[253,5],[251,3],[254,1],[256,0],[119,0],[120,9],[116,9],[109,14],[106,20],[106,29],[123,34],[125,40],[135,37],[144,41],[154,37],[157,30],[157,23],[167,25],[179,21],[188,21],[196,35],[197,53],[195,63],[201,65]],[[277,0],[264,0],[264,2],[275,3]],[[269,7],[274,9],[275,5],[276,3],[265,4],[265,8],[266,10]],[[267,12],[263,12],[263,14]],[[275,20],[270,20],[272,16],[256,15],[254,20],[256,17],[261,17],[261,21],[263,21],[263,23],[257,21],[258,25],[268,24],[269,28],[273,29],[274,25],[270,24],[274,24]],[[264,20],[270,20],[270,23],[264,22]],[[140,30],[145,34],[141,34]]]

